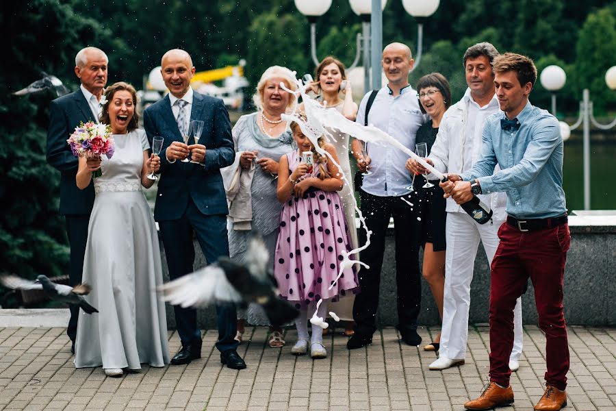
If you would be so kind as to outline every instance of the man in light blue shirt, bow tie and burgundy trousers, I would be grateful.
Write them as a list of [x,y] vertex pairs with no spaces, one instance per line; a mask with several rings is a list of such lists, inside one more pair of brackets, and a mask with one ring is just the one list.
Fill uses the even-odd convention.
[[[530,277],[539,327],[546,334],[548,369],[546,392],[535,410],[560,410],[567,403],[563,277],[571,241],[563,192],[563,140],[554,116],[528,101],[537,80],[532,60],[505,53],[492,65],[502,112],[486,121],[482,158],[470,171],[441,183],[459,204],[474,194],[507,193],[508,217],[499,229],[500,245],[491,264],[490,384],[465,407],[487,410],[513,402],[507,363],[513,346],[513,307]],[[501,170],[492,175],[496,164]]]

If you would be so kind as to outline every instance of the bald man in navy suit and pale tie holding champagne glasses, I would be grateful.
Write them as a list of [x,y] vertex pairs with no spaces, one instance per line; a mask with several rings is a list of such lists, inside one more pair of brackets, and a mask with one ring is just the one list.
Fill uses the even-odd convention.
[[[144,128],[150,142],[164,138],[154,218],[165,247],[169,276],[176,279],[192,273],[193,235],[208,263],[229,256],[227,242],[227,197],[220,169],[235,158],[229,114],[222,100],[195,92],[190,55],[173,49],[163,55],[161,72],[169,94],[144,112]],[[192,120],[203,121],[202,144],[186,145],[182,136]],[[192,140],[192,139],[191,139]],[[194,142],[194,141],[193,141]],[[199,164],[181,162],[189,157]],[[188,364],[201,358],[201,331],[196,310],[175,306],[175,321],[182,348],[171,364]],[[233,306],[216,307],[220,361],[231,369],[246,364],[236,351],[236,312]]]

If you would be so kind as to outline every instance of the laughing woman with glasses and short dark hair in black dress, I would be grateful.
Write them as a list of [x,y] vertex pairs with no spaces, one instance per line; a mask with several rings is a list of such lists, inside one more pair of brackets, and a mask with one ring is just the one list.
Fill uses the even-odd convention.
[[[420,78],[417,88],[420,108],[431,119],[417,131],[416,142],[426,142],[428,153],[436,140],[439,124],[451,105],[449,82],[441,73],[431,73]],[[443,295],[445,288],[445,199],[439,182],[431,188],[423,188],[424,181],[415,178],[415,192],[422,208],[422,242],[424,247],[423,275],[430,285],[432,295],[443,318]],[[424,346],[425,351],[438,351],[441,334],[433,343]]]

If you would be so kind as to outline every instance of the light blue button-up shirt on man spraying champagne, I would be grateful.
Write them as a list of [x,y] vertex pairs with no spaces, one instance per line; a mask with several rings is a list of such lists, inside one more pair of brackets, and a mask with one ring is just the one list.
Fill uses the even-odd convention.
[[[482,158],[461,177],[478,179],[485,193],[505,191],[507,214],[547,219],[565,214],[563,138],[559,122],[530,104],[517,115],[517,131],[503,130],[504,112],[490,116],[483,130]],[[501,170],[491,175],[494,166]]]

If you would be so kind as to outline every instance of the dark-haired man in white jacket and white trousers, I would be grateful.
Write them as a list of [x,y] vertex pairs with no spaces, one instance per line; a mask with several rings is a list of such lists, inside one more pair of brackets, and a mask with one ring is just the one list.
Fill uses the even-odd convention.
[[[488,42],[469,47],[464,53],[463,67],[469,90],[443,116],[428,162],[441,173],[461,174],[470,170],[480,158],[485,119],[500,111],[491,62],[498,55]],[[425,169],[409,159],[407,169],[422,173]],[[428,176],[429,177],[429,176]],[[468,338],[470,284],[479,240],[483,243],[488,264],[498,248],[498,227],[506,219],[504,192],[478,197],[493,210],[492,220],[477,224],[453,199],[447,199],[445,292],[443,328],[439,358],[431,370],[443,370],[464,364]],[[511,371],[519,368],[522,354],[522,301],[515,306],[515,340],[509,358]]]

